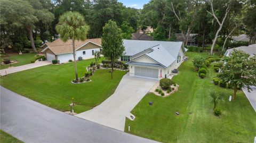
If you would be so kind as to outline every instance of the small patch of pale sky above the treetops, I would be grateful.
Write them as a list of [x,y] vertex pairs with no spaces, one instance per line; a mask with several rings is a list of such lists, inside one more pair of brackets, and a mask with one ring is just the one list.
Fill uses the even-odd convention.
[[147,4],[149,0],[118,0],[123,3],[126,7],[132,7],[135,9],[142,9],[144,4]]

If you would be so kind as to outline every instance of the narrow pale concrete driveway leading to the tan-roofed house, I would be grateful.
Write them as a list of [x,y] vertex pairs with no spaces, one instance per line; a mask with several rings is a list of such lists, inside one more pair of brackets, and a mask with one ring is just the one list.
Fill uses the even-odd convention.
[[3,70],[0,70],[0,73],[1,73],[1,75],[6,75],[6,74],[14,73],[14,72],[37,68],[39,66],[44,66],[44,65],[48,65],[48,64],[51,64],[51,62],[50,61],[36,61],[35,63],[31,63],[31,64],[25,64],[25,65],[20,65],[20,66],[14,66],[13,68],[3,69]]

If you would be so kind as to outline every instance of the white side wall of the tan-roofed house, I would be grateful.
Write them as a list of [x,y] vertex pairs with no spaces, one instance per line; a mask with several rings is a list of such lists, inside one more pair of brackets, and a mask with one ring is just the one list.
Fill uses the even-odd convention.
[[[93,58],[94,55],[92,55],[92,50],[94,50],[94,53],[95,53],[95,51],[100,51],[100,48],[76,51],[76,60],[78,60],[79,56],[81,56],[84,60],[88,58]],[[85,55],[83,55],[83,51],[85,51]],[[60,54],[58,55],[58,60],[60,63],[68,62],[68,60],[74,61],[73,53]]]

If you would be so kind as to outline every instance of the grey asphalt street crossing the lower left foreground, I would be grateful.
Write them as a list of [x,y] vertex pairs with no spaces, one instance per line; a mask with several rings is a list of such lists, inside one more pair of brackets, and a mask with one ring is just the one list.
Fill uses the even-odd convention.
[[24,142],[155,142],[54,110],[1,89],[1,130]]

